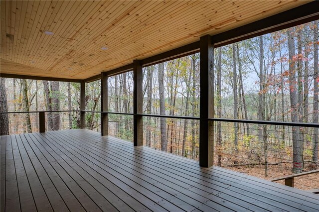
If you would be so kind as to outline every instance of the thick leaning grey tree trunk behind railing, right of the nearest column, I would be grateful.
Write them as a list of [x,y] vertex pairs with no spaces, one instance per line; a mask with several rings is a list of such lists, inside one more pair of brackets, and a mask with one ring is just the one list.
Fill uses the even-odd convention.
[[[291,105],[291,120],[292,122],[298,122],[298,93],[296,82],[296,68],[293,57],[295,56],[295,38],[292,35],[293,29],[290,28],[288,33],[288,51],[289,51],[289,88],[290,88],[290,105]],[[292,139],[293,139],[293,173],[300,173],[304,168],[303,162],[303,141],[300,136],[300,129],[297,126],[292,127]]]

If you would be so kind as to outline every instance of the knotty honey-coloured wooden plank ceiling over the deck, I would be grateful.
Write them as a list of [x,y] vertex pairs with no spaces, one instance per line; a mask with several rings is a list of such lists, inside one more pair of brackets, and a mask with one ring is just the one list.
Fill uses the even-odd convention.
[[0,71],[86,79],[307,2],[1,0]]

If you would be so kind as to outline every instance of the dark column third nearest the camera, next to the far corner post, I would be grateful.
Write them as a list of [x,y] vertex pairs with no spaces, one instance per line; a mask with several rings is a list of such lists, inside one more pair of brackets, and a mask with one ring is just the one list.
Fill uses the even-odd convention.
[[108,111],[108,76],[105,72],[101,74],[101,111],[101,134],[109,135],[108,113],[103,113]]

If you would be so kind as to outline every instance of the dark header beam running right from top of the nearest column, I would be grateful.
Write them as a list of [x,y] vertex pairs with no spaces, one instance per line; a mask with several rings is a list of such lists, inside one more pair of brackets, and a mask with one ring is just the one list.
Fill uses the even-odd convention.
[[214,47],[257,37],[319,19],[319,1],[266,17],[253,23],[213,35]]

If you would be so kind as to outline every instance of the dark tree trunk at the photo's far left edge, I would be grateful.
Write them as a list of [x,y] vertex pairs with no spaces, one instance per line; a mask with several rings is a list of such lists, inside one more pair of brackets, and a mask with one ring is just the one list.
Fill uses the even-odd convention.
[[[6,89],[4,79],[0,78],[0,112],[7,112],[8,104],[6,100]],[[9,131],[9,115],[8,113],[0,114],[0,135],[8,135]]]

